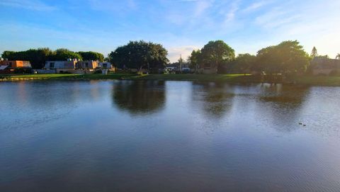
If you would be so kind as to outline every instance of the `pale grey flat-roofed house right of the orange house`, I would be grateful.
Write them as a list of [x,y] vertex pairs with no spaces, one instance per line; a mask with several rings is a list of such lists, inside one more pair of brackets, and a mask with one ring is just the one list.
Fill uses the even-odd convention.
[[47,61],[45,62],[45,69],[55,69],[56,73],[75,73],[77,68],[77,59],[68,59],[67,61]]

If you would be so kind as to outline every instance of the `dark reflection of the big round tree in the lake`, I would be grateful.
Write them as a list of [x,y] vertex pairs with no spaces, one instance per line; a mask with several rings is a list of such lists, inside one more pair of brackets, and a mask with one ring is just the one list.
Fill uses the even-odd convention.
[[164,81],[118,81],[112,89],[113,104],[132,115],[148,115],[164,108]]

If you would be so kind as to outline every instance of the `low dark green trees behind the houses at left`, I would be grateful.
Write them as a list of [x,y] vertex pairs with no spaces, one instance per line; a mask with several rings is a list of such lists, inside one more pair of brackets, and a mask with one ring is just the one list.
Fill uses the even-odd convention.
[[4,51],[1,55],[2,58],[8,60],[26,60],[30,61],[33,69],[41,69],[45,66],[46,61],[57,61],[67,59],[77,60],[98,60],[103,62],[104,56],[100,52],[73,52],[67,49],[51,50],[48,47],[30,49],[26,51]]

